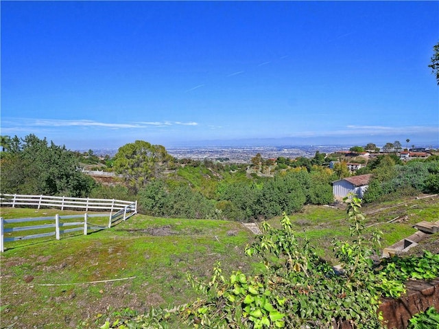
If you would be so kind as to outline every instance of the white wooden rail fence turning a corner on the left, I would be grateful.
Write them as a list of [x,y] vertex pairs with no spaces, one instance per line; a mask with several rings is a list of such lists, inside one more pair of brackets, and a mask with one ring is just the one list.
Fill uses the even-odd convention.
[[[10,198],[12,197],[12,198]],[[82,201],[81,201],[82,200]],[[57,201],[62,201],[61,203]],[[40,207],[60,207],[61,209],[70,208],[86,208],[88,209],[111,209],[110,214],[87,214],[84,215],[67,215],[60,216],[56,214],[55,216],[49,217],[38,217],[38,218],[11,218],[4,219],[0,217],[0,251],[4,251],[5,242],[27,240],[34,238],[43,238],[46,236],[56,236],[56,240],[60,240],[61,234],[66,234],[73,231],[84,231],[84,235],[88,233],[88,230],[96,229],[106,229],[110,228],[121,220],[127,220],[134,214],[137,214],[137,201],[122,201],[122,200],[108,200],[108,199],[98,199],[98,198],[67,198],[64,196],[34,196],[34,195],[19,195],[19,194],[1,194],[1,205],[34,205]],[[113,209],[118,210],[113,214]],[[108,225],[94,225],[88,223],[88,218],[93,217],[108,217]],[[83,218],[82,221],[69,222],[66,220],[71,220],[75,218]],[[29,225],[21,226],[20,223],[32,223],[40,221],[49,221],[51,223],[45,223],[43,225]],[[64,220],[64,222],[62,222]],[[6,227],[5,227],[6,225]],[[66,228],[64,227],[73,227]],[[51,231],[47,231],[51,229]],[[54,230],[53,230],[54,229]],[[12,236],[6,237],[5,234],[12,234],[13,232],[20,231],[41,231],[46,230],[43,233],[29,234],[26,236]]]

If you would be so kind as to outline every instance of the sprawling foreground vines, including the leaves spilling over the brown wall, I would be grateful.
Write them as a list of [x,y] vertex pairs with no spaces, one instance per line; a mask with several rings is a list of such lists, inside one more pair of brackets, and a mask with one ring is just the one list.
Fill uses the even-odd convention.
[[[342,321],[354,329],[383,328],[379,297],[400,297],[405,280],[437,277],[439,256],[425,251],[422,258],[391,258],[377,266],[370,256],[380,232],[366,239],[361,201],[346,202],[351,241],[333,240],[341,271],[322,260],[307,238],[296,237],[283,214],[280,229],[263,223],[263,234],[246,248],[265,265],[261,274],[235,271],[226,277],[217,263],[209,282],[187,275],[204,298],[171,310],[107,319],[101,328],[182,328],[180,321],[192,328],[333,328]],[[430,328],[423,326],[430,315],[436,319],[436,310],[414,317],[412,328]]]

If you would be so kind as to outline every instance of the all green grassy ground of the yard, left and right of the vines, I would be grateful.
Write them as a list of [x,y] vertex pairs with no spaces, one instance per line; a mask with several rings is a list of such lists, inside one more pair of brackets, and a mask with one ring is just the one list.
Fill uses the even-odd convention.
[[[439,220],[439,198],[406,199],[363,208],[369,230],[383,231],[383,247],[405,238],[421,220]],[[74,214],[56,209],[1,208],[3,218]],[[331,240],[348,238],[344,209],[309,206],[289,216],[320,256],[331,260]],[[394,218],[400,218],[386,223]],[[280,218],[270,224],[279,225]],[[178,305],[195,299],[186,273],[211,277],[253,273],[244,256],[254,236],[240,223],[136,215],[111,229],[6,242],[1,254],[1,328],[75,328],[78,321],[126,307]],[[436,239],[437,236],[436,236]]]

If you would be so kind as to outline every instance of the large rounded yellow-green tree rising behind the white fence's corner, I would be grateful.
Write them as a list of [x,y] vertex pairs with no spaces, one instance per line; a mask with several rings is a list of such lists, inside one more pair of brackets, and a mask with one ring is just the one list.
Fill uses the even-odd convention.
[[139,191],[152,178],[159,178],[161,172],[172,163],[174,158],[164,146],[152,145],[147,141],[121,146],[114,158],[115,172],[123,174],[130,188]]

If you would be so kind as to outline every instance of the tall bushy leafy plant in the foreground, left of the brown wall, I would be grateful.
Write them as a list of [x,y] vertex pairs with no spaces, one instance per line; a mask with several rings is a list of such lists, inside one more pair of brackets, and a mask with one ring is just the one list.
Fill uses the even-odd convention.
[[237,271],[226,278],[217,264],[207,284],[189,275],[205,298],[186,306],[181,316],[194,328],[328,328],[343,320],[354,328],[382,328],[376,288],[382,282],[361,234],[360,207],[358,198],[348,201],[353,241],[334,242],[341,273],[317,256],[309,240],[296,237],[284,214],[281,229],[263,223],[264,234],[246,248],[248,256],[261,258],[263,273]]

